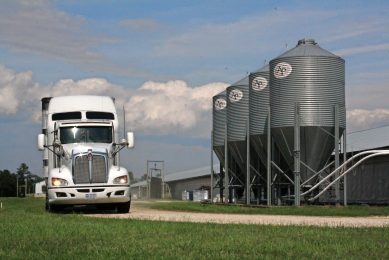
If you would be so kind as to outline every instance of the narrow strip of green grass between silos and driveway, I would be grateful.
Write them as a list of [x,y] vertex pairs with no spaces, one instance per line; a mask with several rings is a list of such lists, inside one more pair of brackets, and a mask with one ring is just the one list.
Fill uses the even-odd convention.
[[232,214],[266,214],[266,215],[297,215],[297,216],[344,216],[344,217],[366,217],[366,216],[389,216],[388,206],[272,206],[272,207],[246,207],[242,205],[215,205],[201,204],[194,202],[147,202],[142,206],[153,209],[207,212],[207,213],[232,213]]

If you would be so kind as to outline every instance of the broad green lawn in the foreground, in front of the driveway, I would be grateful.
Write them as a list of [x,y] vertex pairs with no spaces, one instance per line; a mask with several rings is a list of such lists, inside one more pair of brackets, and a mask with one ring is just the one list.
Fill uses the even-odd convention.
[[151,222],[49,214],[40,199],[4,199],[0,259],[270,259],[389,257],[389,228]]

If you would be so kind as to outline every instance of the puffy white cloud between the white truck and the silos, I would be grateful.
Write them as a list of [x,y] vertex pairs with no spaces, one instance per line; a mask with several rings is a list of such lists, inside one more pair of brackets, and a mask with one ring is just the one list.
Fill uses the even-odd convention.
[[186,82],[146,82],[125,105],[126,119],[147,133],[177,134],[185,131],[207,136],[210,131],[211,97],[227,87],[211,83],[191,88]]

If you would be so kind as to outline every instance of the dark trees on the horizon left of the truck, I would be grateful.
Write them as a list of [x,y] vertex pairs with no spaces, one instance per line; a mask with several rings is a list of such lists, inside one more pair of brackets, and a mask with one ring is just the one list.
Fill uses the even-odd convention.
[[42,177],[32,174],[25,163],[21,163],[16,173],[9,170],[0,170],[0,197],[24,197],[33,193],[35,183],[44,180]]

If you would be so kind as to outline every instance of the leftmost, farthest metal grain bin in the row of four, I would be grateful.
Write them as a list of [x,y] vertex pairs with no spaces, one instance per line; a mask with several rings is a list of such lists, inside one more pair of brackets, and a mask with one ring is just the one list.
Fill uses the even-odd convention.
[[[212,106],[212,129],[213,143],[212,147],[219,158],[224,162],[224,142],[226,138],[226,120],[227,120],[227,91],[223,91],[213,96]],[[224,164],[224,163],[223,163]]]

